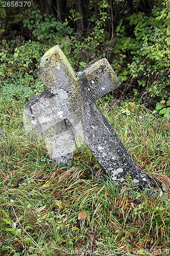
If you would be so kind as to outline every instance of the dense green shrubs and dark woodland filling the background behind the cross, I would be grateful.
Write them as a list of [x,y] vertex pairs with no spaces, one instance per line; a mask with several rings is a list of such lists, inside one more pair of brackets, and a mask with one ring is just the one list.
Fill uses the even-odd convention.
[[34,71],[45,51],[58,44],[75,70],[106,57],[120,80],[114,96],[151,109],[161,102],[158,109],[167,111],[169,11],[168,0],[41,0],[31,7],[1,7],[1,92],[10,97],[11,90],[21,101],[40,92]]

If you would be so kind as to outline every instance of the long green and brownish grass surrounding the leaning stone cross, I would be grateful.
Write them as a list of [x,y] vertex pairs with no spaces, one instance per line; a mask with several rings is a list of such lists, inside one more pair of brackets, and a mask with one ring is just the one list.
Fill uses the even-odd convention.
[[[110,96],[98,105],[113,125]],[[152,198],[113,184],[86,145],[72,167],[53,165],[43,141],[27,138],[23,108],[1,99],[0,255],[168,255],[170,123],[132,101],[114,104],[117,135],[153,184],[166,185]]]

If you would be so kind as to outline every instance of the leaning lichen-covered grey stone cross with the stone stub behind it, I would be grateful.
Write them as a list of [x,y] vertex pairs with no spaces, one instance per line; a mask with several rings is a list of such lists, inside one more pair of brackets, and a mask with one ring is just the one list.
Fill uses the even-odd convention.
[[113,181],[131,178],[134,186],[150,186],[148,176],[134,163],[95,103],[119,86],[106,58],[76,74],[55,46],[43,55],[36,74],[47,91],[27,103],[25,115],[40,132],[55,125],[56,163],[71,161],[78,132]]

